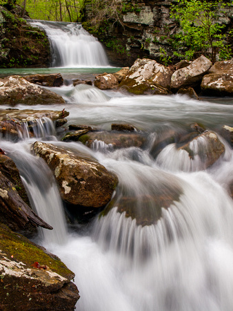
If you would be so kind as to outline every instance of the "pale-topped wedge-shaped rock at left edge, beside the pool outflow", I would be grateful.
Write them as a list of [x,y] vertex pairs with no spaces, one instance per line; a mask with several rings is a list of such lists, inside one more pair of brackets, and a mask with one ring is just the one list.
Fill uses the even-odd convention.
[[0,79],[0,105],[9,104],[64,104],[60,95],[13,75]]

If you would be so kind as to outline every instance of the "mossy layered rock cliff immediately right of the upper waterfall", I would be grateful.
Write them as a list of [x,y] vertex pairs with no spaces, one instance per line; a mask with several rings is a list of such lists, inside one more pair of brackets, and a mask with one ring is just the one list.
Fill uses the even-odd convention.
[[[108,1],[103,1],[105,3]],[[88,31],[97,36],[108,50],[110,62],[115,66],[132,66],[136,58],[148,57],[168,65],[177,62],[174,57],[172,35],[179,24],[170,17],[172,5],[178,1],[115,0],[111,10],[101,8],[102,21],[93,26],[98,13],[92,0],[85,1],[84,24]],[[230,1],[225,1],[230,4]],[[113,14],[112,12],[115,12]],[[100,13],[99,13],[100,15]],[[233,25],[233,5],[219,11],[218,23],[227,35]],[[228,35],[227,44],[232,45]]]

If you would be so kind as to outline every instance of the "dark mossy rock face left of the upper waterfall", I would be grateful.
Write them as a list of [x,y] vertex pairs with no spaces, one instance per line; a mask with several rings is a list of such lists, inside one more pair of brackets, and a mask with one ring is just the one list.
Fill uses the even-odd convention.
[[0,68],[43,68],[50,64],[50,43],[33,28],[0,6]]

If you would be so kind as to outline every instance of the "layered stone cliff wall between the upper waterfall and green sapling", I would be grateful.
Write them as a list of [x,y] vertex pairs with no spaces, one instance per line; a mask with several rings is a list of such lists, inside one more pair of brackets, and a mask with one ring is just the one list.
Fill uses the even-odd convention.
[[[119,15],[120,23],[112,22],[110,27],[105,27],[96,35],[108,48],[108,57],[115,65],[131,66],[138,57],[150,57],[156,61],[163,62],[163,57],[172,57],[173,50],[169,43],[170,36],[179,29],[179,25],[170,18],[171,6],[178,1],[147,1],[147,0],[119,0],[120,6],[135,8],[126,10]],[[229,1],[226,1],[229,2]],[[85,21],[92,19],[92,4],[86,1]],[[108,17],[106,17],[106,20]],[[229,32],[233,25],[233,5],[227,7],[225,12],[219,13],[219,23],[225,25],[225,31]],[[88,29],[92,31],[91,29]],[[109,44],[114,39],[124,50],[124,53],[112,53],[112,45]],[[113,44],[114,46],[114,44]]]

